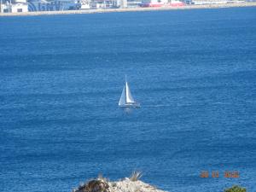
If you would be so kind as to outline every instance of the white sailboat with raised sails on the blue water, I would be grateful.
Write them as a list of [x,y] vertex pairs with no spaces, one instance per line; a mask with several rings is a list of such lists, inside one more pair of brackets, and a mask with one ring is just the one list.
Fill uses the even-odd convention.
[[140,108],[140,103],[135,102],[133,97],[131,96],[131,90],[126,80],[125,75],[125,86],[122,91],[122,95],[119,99],[119,107],[120,108]]

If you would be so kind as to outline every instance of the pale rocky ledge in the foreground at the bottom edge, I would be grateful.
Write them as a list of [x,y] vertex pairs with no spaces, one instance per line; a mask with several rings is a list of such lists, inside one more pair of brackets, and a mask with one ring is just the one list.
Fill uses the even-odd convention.
[[104,178],[96,178],[88,183],[81,184],[78,189],[73,189],[73,192],[166,192],[156,189],[148,183],[143,183],[140,180],[133,180],[125,177],[118,182],[109,182]]

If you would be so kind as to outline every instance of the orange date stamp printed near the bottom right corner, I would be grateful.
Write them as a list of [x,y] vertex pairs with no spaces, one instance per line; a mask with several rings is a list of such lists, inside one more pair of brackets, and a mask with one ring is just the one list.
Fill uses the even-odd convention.
[[202,171],[200,173],[200,177],[201,178],[208,178],[208,177],[212,177],[212,178],[218,178],[218,177],[225,177],[225,178],[239,178],[240,174],[237,171],[225,171],[222,174],[220,174],[218,171],[212,171],[212,172],[208,172],[208,171]]

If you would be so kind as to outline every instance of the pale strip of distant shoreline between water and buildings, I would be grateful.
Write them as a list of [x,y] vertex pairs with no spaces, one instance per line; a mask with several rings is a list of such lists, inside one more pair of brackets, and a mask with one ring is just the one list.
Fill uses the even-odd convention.
[[206,4],[206,5],[185,5],[183,7],[86,9],[86,10],[64,10],[64,11],[38,11],[38,12],[26,12],[26,13],[2,13],[0,14],[0,16],[100,14],[100,13],[113,13],[113,12],[161,11],[161,10],[185,10],[185,9],[221,9],[221,8],[254,7],[254,6],[256,6],[256,3],[225,3],[225,4]]

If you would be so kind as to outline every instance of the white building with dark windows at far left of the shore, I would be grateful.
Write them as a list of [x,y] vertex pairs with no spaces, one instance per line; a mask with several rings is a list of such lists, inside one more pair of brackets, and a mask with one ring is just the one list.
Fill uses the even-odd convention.
[[0,13],[20,13],[27,12],[26,0],[0,1]]

